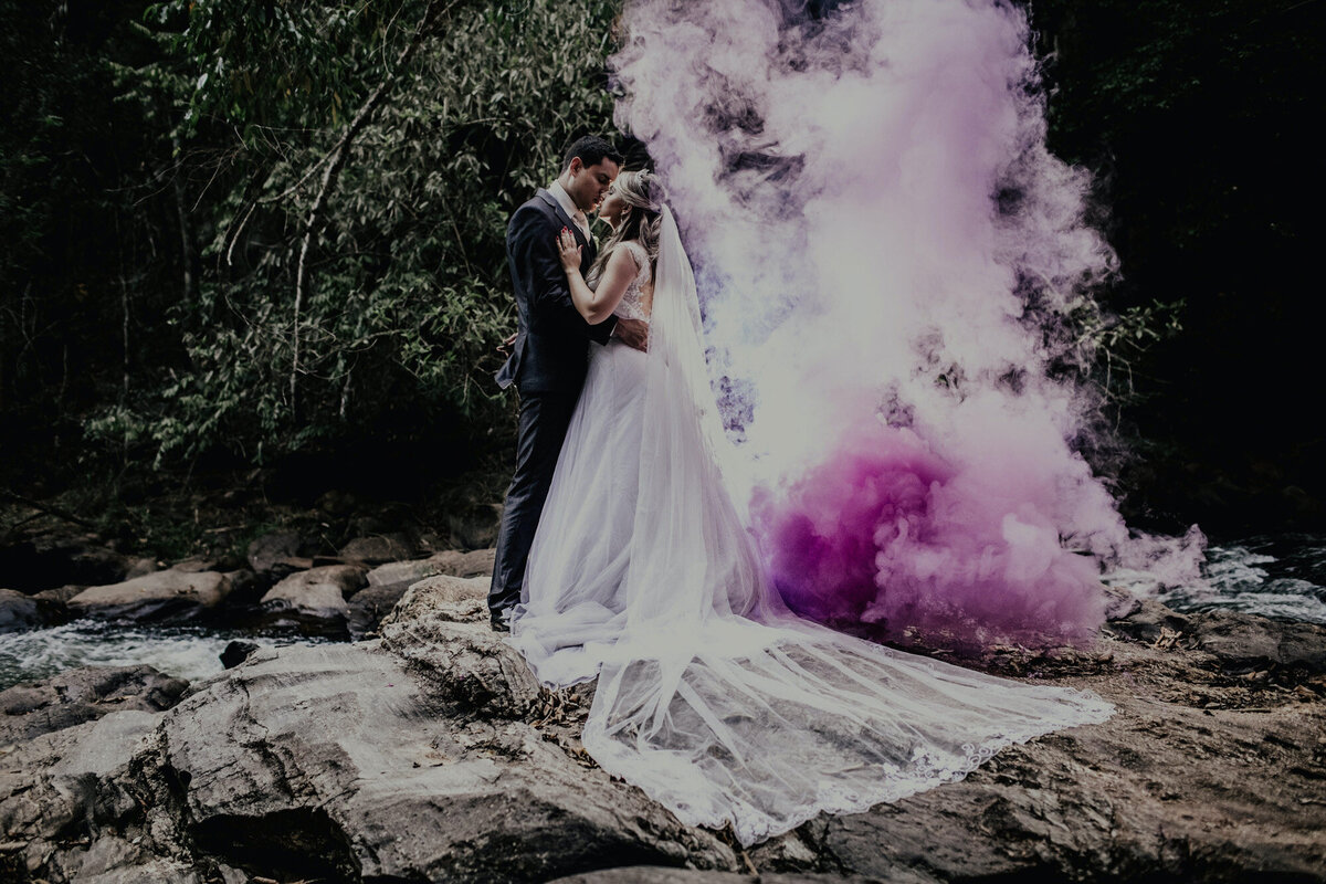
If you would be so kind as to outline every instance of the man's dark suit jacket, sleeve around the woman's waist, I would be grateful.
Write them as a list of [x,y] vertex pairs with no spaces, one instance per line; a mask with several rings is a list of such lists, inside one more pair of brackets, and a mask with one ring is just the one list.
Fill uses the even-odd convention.
[[581,244],[581,273],[589,273],[597,249],[544,188],[516,209],[507,225],[507,262],[516,289],[516,345],[497,372],[497,384],[512,383],[521,395],[578,394],[585,383],[589,341],[607,343],[617,325],[585,322],[572,301],[566,272],[557,257],[557,235],[569,228]]

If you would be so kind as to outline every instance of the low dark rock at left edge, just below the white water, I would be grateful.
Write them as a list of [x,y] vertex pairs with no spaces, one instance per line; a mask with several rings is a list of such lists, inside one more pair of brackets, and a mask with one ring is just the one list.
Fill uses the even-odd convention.
[[0,691],[0,745],[125,709],[170,709],[188,689],[149,665],[82,667]]

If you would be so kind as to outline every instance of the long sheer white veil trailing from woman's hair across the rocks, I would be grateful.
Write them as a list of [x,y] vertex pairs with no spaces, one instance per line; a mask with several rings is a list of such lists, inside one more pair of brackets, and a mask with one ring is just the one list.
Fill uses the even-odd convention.
[[[1026,685],[837,634],[766,584],[725,478],[695,278],[663,207],[629,563],[585,749],[686,823],[743,844],[961,778],[1001,746],[1107,718]],[[517,636],[521,632],[517,628]],[[533,661],[533,660],[532,660]]]

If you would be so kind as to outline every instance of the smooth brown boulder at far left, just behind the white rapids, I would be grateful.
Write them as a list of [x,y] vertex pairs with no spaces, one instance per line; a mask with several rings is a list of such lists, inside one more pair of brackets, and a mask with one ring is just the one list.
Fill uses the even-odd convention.
[[69,599],[69,610],[103,619],[187,620],[219,606],[231,587],[231,578],[217,571],[170,569],[122,583],[90,586]]

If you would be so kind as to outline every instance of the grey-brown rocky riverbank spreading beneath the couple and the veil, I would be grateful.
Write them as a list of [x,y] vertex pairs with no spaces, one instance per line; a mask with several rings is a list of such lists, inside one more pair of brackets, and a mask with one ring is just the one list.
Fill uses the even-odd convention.
[[[1321,627],[1120,598],[1090,651],[968,661],[1091,688],[1114,718],[743,851],[585,754],[593,688],[541,689],[488,631],[489,553],[306,565],[240,591],[366,639],[191,685],[137,667],[0,692],[0,880],[1326,880]],[[168,579],[196,587],[176,615],[221,586]]]

